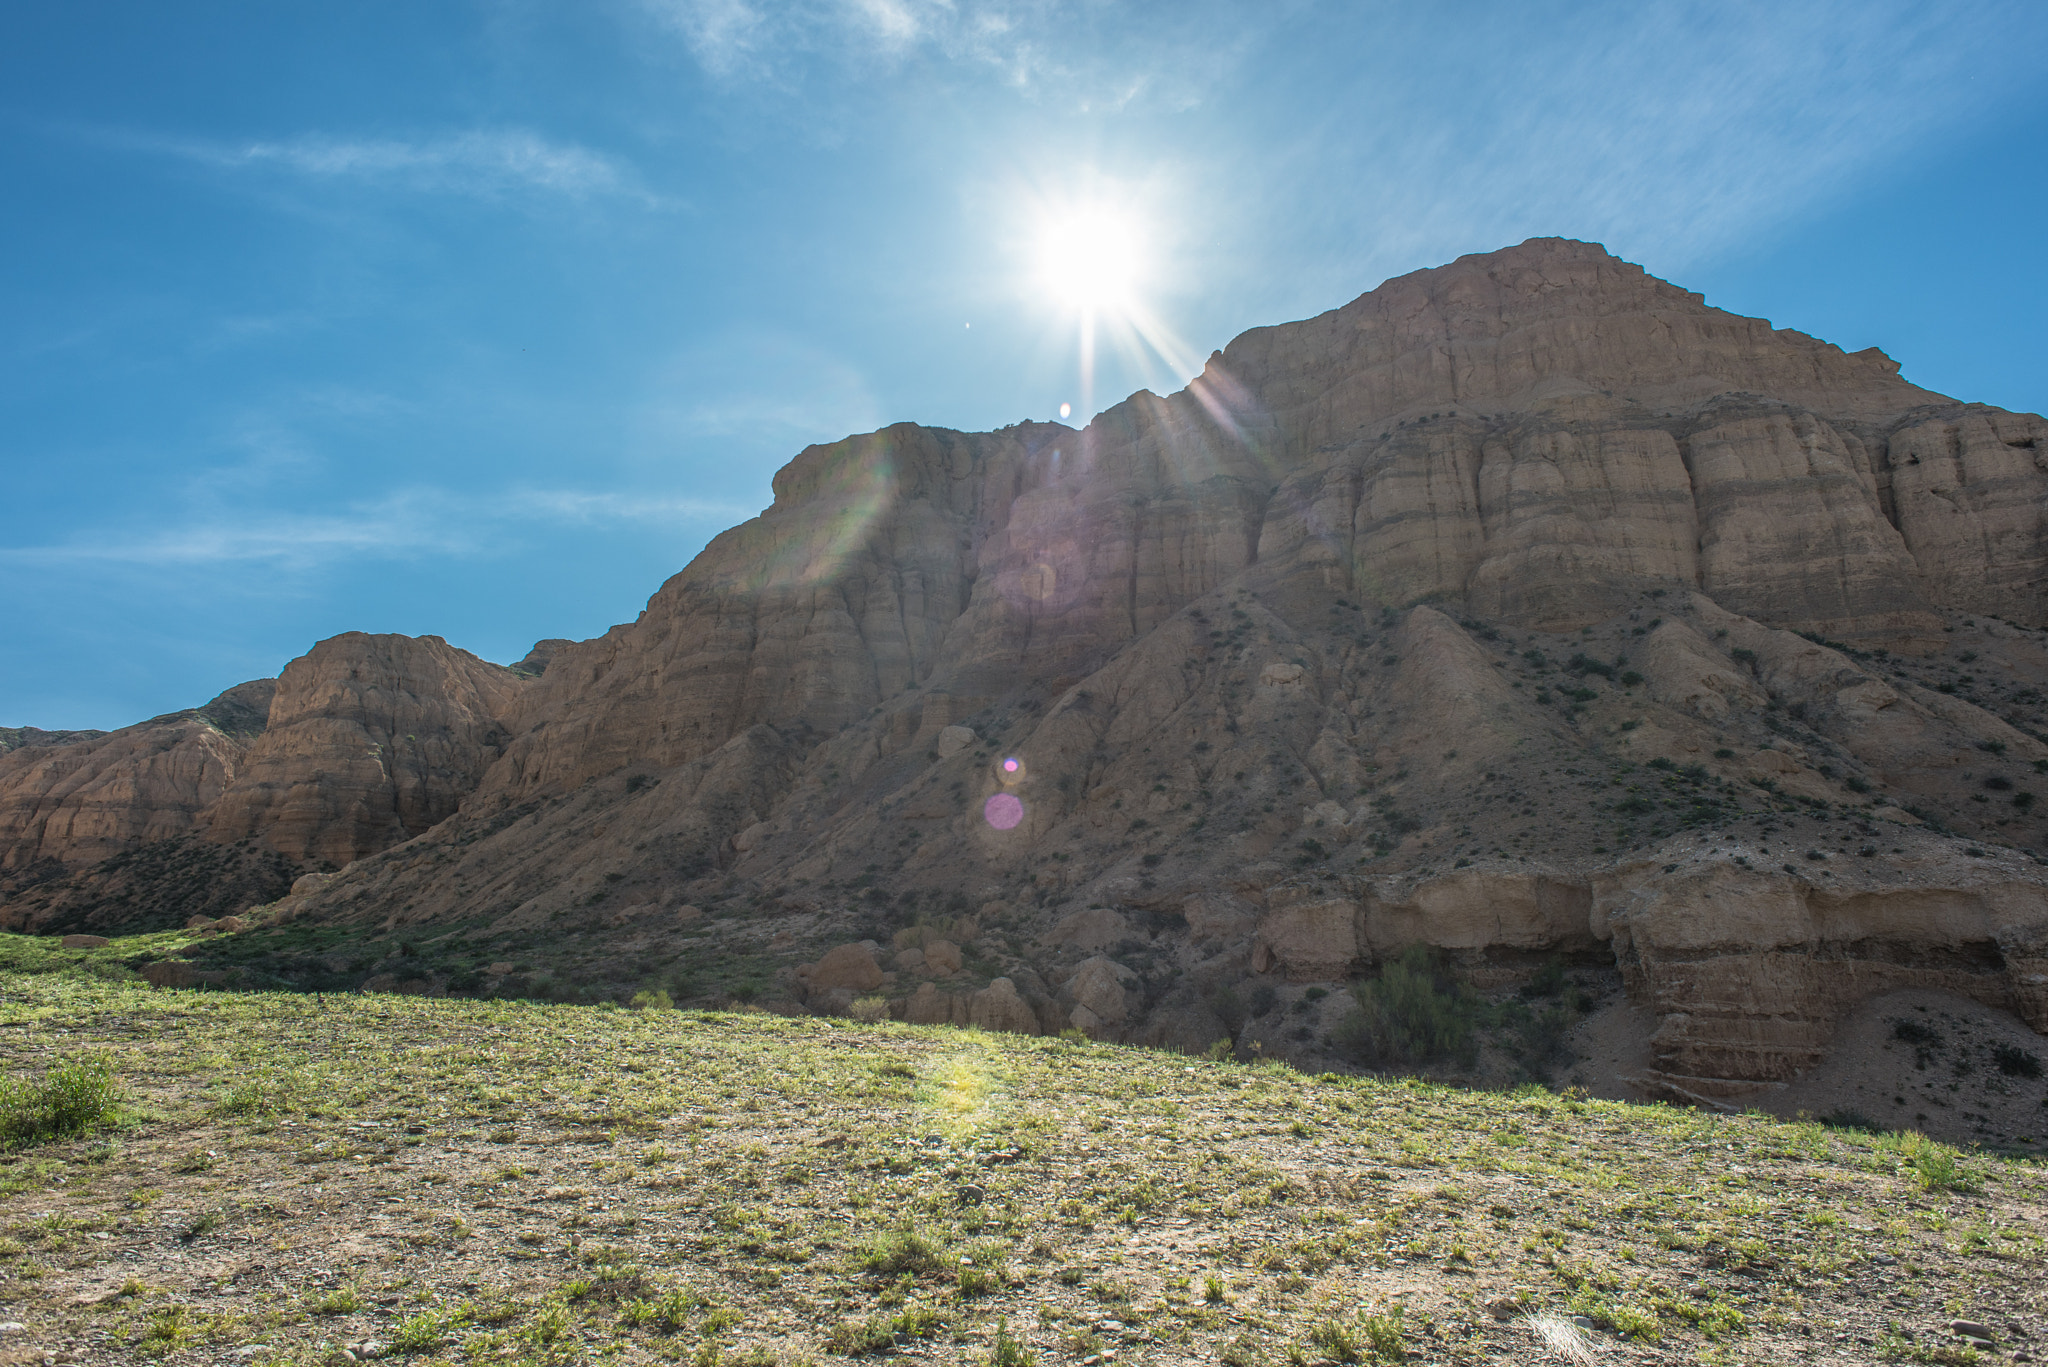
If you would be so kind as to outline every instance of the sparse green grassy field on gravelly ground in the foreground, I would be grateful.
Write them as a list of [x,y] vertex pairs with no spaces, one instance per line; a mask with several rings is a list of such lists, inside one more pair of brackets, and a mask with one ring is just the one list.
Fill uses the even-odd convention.
[[0,1154],[0,1363],[2048,1347],[2048,1174],[1915,1137],[901,1025],[0,971],[8,1105],[63,1062],[121,1101]]

